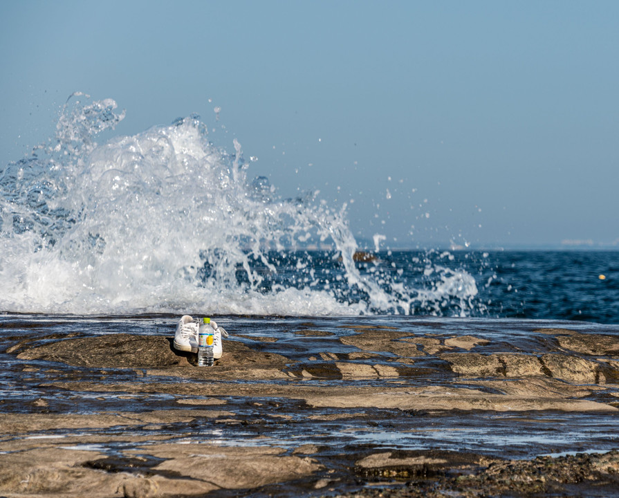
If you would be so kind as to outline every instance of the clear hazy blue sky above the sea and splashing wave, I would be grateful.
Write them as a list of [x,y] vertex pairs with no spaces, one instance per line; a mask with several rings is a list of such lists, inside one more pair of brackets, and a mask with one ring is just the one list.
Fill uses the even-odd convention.
[[618,248],[618,20],[613,0],[3,0],[0,169],[82,91],[126,109],[118,135],[198,113],[281,196],[346,203],[360,241]]

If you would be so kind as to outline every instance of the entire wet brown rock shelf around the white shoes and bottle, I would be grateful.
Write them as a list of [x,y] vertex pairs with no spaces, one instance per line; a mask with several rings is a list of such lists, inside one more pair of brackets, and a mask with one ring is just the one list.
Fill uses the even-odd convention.
[[610,326],[175,320],[2,317],[0,496],[619,495]]

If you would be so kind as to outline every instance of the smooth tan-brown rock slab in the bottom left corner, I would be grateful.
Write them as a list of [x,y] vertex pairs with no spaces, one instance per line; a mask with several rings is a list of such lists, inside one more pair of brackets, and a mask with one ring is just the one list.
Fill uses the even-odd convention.
[[[133,465],[122,468],[123,461],[136,461],[141,457],[110,461],[99,452],[53,448],[48,440],[29,442],[41,448],[26,447],[2,454],[0,494],[61,498],[205,495],[221,488],[256,488],[308,477],[322,468],[313,459],[286,456],[282,454],[284,450],[277,448],[176,443],[140,447],[138,443],[136,450],[126,453],[151,454],[164,459],[149,468],[149,477],[143,477],[139,469],[131,473]],[[115,462],[120,467],[116,468]],[[165,477],[169,472],[175,474],[174,479]]]

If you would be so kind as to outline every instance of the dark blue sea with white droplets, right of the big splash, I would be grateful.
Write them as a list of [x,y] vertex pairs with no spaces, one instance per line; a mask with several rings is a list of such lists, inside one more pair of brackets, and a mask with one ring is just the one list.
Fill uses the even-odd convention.
[[[619,251],[393,250],[357,252],[355,270],[372,291],[351,286],[334,251],[268,252],[259,291],[306,286],[352,311],[374,315],[582,320],[619,323]],[[299,270],[302,268],[302,270]],[[204,269],[204,268],[203,268]],[[210,276],[208,268],[203,278]],[[245,276],[237,272],[239,282]],[[382,304],[382,307],[380,306]],[[293,313],[294,314],[294,313]]]

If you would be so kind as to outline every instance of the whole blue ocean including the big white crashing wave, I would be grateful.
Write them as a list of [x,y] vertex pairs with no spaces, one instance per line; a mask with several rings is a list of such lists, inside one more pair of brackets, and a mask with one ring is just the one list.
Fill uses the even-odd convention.
[[98,144],[124,111],[76,93],[0,172],[0,310],[434,315],[619,323],[619,252],[360,247],[346,206],[283,199],[198,116]]

